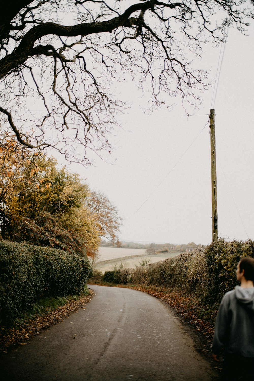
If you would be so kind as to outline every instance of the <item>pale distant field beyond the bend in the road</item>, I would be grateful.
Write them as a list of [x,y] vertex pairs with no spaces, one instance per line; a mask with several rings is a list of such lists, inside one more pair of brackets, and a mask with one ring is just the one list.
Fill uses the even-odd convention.
[[113,270],[115,266],[118,268],[123,264],[124,268],[135,268],[140,266],[142,261],[155,263],[165,258],[170,258],[179,254],[179,251],[170,251],[169,253],[146,254],[145,249],[129,249],[117,247],[100,247],[99,256],[95,264],[95,268],[102,271]]

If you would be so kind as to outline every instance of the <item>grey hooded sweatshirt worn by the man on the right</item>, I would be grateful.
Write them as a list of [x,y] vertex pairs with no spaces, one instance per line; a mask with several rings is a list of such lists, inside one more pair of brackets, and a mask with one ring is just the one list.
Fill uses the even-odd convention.
[[216,318],[212,352],[254,357],[254,287],[225,293]]

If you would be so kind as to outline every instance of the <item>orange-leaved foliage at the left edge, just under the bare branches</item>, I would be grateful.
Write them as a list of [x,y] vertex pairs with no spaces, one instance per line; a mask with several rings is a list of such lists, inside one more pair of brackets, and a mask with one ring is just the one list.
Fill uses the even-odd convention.
[[0,205],[15,224],[22,217],[30,217],[32,209],[36,213],[36,193],[44,183],[50,184],[48,169],[52,168],[47,168],[47,164],[50,161],[50,165],[55,165],[56,161],[42,152],[34,155],[7,133],[0,147]]

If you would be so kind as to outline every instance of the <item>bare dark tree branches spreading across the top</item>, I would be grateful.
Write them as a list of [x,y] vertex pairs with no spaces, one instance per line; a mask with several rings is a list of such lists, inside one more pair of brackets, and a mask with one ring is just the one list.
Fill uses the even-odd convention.
[[[195,102],[206,72],[192,59],[219,43],[229,24],[241,32],[253,0],[9,0],[0,12],[0,123],[32,149],[52,147],[89,162],[110,147],[124,104],[112,81],[131,75],[151,91]],[[168,104],[166,104],[168,106]],[[77,147],[83,146],[81,157]]]

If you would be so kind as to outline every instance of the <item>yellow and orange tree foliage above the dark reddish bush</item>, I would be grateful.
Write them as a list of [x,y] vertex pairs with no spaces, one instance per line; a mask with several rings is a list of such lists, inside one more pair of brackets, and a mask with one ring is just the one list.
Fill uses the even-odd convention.
[[21,148],[6,134],[4,144],[0,142],[0,208],[12,228],[22,218],[34,220],[41,211],[58,216],[67,231],[82,235],[87,255],[94,258],[100,237],[115,239],[121,219],[104,195],[90,192],[77,174],[57,170],[56,164],[42,152]]

